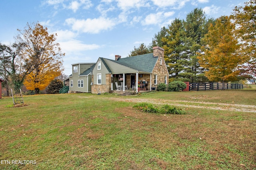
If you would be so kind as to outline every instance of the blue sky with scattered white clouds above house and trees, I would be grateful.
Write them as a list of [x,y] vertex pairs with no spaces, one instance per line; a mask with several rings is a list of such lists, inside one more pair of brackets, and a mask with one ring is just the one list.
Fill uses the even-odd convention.
[[0,43],[14,42],[17,29],[39,21],[66,53],[64,74],[71,64],[93,63],[98,57],[127,57],[134,46],[149,45],[161,27],[185,19],[194,8],[218,18],[230,15],[246,0],[0,0]]

